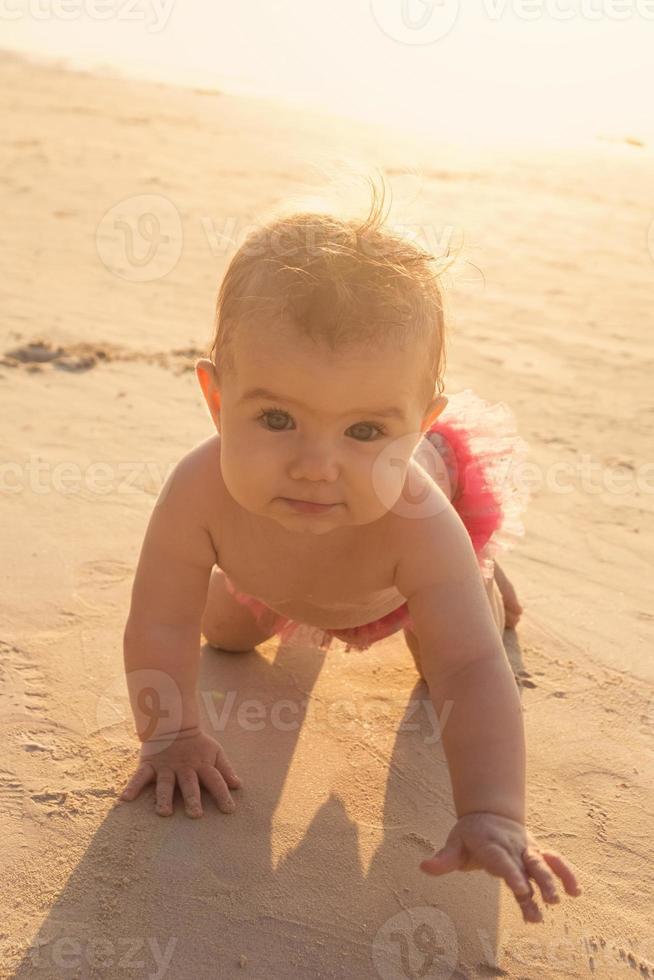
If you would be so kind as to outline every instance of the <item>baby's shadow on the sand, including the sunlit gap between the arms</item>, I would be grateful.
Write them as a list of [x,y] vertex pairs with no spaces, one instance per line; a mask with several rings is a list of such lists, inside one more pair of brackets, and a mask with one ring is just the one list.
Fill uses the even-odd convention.
[[[514,631],[504,643],[517,674]],[[204,816],[191,820],[176,790],[173,816],[158,817],[152,784],[117,803],[17,980],[503,974],[505,886],[418,867],[455,818],[436,716],[424,682],[410,688],[403,640],[326,654],[275,645],[202,651],[205,730],[243,780],[235,812],[203,789]]]

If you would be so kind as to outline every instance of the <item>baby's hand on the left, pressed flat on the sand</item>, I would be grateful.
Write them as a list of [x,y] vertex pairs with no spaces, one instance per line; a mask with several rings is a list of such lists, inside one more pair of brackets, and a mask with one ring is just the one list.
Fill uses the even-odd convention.
[[156,742],[144,742],[141,748],[140,764],[120,795],[121,800],[135,799],[144,786],[156,779],[155,810],[161,817],[169,817],[173,812],[175,781],[184,797],[187,816],[201,817],[202,803],[200,784],[202,780],[223,813],[232,813],[236,804],[229,788],[238,789],[241,780],[219,743],[199,728],[182,732],[170,742],[164,741],[165,748],[157,751]]

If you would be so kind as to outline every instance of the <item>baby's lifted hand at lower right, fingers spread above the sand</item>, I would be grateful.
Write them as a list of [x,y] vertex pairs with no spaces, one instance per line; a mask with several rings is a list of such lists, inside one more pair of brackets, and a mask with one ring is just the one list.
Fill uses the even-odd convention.
[[552,871],[568,895],[581,895],[575,873],[565,858],[556,851],[541,851],[526,827],[496,813],[460,817],[445,846],[423,861],[420,868],[433,875],[482,869],[503,878],[515,895],[525,922],[543,921],[529,878],[536,881],[550,904],[560,901]]

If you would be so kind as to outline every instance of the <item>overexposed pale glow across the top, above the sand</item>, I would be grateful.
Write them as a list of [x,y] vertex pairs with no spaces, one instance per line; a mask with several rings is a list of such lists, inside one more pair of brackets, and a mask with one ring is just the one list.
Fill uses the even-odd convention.
[[57,0],[3,0],[2,44],[436,139],[654,133],[654,0],[113,0],[113,17],[106,7],[66,0],[64,17]]

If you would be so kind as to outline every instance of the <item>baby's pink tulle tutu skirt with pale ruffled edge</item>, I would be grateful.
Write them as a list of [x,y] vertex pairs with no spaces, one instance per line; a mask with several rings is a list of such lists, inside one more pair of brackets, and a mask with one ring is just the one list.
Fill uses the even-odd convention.
[[[445,409],[423,437],[438,452],[441,465],[435,473],[431,467],[425,468],[461,517],[487,582],[493,578],[495,558],[525,533],[522,514],[530,492],[520,481],[520,468],[529,447],[518,435],[515,416],[504,402],[490,404],[469,388],[448,398]],[[418,462],[423,465],[420,456]],[[268,606],[237,590],[228,578],[225,585],[257,622],[262,623],[265,617],[265,626],[270,628],[272,610]],[[279,634],[282,643],[327,650],[338,639],[347,650],[366,650],[403,628],[413,628],[406,602],[380,619],[349,629],[323,630],[278,615],[272,632]]]

